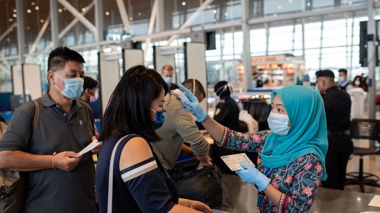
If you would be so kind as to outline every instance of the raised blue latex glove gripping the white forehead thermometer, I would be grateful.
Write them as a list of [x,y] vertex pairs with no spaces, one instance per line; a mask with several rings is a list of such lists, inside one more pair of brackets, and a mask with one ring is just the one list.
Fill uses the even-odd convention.
[[186,111],[190,111],[191,114],[193,114],[196,117],[196,120],[198,122],[204,121],[207,117],[207,111],[204,110],[202,108],[202,106],[200,106],[198,99],[196,99],[196,97],[194,96],[194,94],[192,94],[190,92],[190,90],[188,90],[182,84],[180,84],[178,86],[181,88],[182,91],[184,91],[186,97],[189,99],[189,102],[185,101],[184,104],[187,106],[190,106],[190,108],[192,110],[188,109],[187,107],[183,106],[182,104],[181,104],[181,107],[184,108]]

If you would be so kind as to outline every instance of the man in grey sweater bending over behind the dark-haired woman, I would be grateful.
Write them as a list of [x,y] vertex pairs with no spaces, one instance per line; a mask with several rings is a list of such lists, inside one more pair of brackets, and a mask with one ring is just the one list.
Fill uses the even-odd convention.
[[[206,97],[202,84],[196,79],[182,83],[201,102]],[[181,108],[176,96],[170,93],[165,97],[166,118],[164,125],[156,131],[162,139],[152,143],[153,150],[166,170],[174,169],[181,150],[193,153],[200,161],[198,167],[212,166],[208,156],[209,144],[199,132],[190,112]],[[190,143],[190,147],[183,144]]]

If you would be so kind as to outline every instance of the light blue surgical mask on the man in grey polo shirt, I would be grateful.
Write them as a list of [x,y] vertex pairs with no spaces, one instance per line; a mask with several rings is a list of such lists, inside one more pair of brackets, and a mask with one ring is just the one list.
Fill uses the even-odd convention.
[[85,82],[83,78],[62,78],[56,72],[54,72],[59,78],[61,78],[65,84],[65,89],[61,90],[57,87],[56,84],[54,86],[61,91],[61,93],[69,99],[79,99],[83,92],[83,83]]

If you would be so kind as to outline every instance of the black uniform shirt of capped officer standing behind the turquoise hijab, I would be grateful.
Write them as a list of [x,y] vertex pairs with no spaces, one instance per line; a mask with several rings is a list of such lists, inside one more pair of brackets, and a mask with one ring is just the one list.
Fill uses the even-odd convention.
[[351,98],[333,86],[322,94],[325,103],[327,131],[338,132],[350,127]]

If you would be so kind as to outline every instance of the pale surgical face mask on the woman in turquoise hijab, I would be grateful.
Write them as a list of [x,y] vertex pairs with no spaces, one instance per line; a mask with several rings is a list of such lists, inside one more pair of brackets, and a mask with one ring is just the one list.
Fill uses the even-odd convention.
[[268,117],[268,125],[272,132],[279,136],[285,136],[289,132],[289,117],[285,114],[271,112]]

